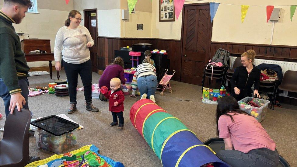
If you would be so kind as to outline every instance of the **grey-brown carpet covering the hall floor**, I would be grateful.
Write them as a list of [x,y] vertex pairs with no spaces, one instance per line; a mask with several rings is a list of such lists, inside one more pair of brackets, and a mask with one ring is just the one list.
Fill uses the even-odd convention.
[[[56,78],[55,72],[53,76]],[[61,72],[60,76],[60,79],[66,78],[64,71]],[[98,83],[99,78],[100,75],[93,73],[93,83]],[[50,79],[49,75],[32,76],[28,79],[30,87],[44,87],[49,82],[54,82],[54,79]],[[215,137],[214,117],[216,105],[201,102],[201,86],[176,81],[170,83],[173,93],[169,93],[167,90],[164,96],[161,96],[157,91],[157,104],[179,118],[190,130],[194,131],[202,142]],[[80,78],[78,87],[82,87]],[[83,92],[77,92],[78,111],[70,115],[66,113],[69,108],[68,96],[58,97],[53,94],[44,94],[29,97],[28,101],[29,108],[33,112],[33,118],[64,113],[85,127],[78,130],[77,145],[67,148],[64,152],[78,149],[86,144],[95,144],[100,149],[100,154],[122,162],[127,167],[161,166],[158,157],[131,124],[129,111],[133,103],[138,99],[139,97],[125,96],[124,129],[122,130],[109,126],[112,122],[112,115],[108,110],[108,102],[93,99],[94,105],[100,109],[100,112],[86,111]],[[177,99],[188,99],[193,102],[177,101]],[[0,126],[4,127],[5,112],[3,101],[0,101],[1,113],[4,115],[4,118],[1,118]],[[283,108],[276,107],[274,111],[268,109],[265,120],[261,122],[270,137],[276,142],[279,154],[291,166],[297,166],[296,120],[297,107],[284,105]],[[3,137],[3,132],[0,133],[0,137]],[[29,151],[31,156],[38,155],[41,159],[54,154],[38,149],[35,137],[29,138]]]

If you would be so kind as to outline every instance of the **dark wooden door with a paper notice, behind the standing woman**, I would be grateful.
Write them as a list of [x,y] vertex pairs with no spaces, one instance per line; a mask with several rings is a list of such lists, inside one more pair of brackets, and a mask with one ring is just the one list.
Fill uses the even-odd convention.
[[94,40],[93,47],[89,48],[91,52],[92,71],[98,73],[97,9],[84,10],[84,24]]

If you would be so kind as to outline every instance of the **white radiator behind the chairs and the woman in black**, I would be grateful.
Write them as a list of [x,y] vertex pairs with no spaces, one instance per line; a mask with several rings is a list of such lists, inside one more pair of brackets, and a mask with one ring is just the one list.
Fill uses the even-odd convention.
[[[231,56],[230,57],[230,67],[233,66],[233,63],[235,61],[236,57]],[[266,64],[278,64],[281,66],[281,69],[283,71],[283,75],[286,71],[292,70],[297,71],[297,63],[295,62],[289,62],[289,61],[277,61],[277,60],[265,60],[265,59],[254,59],[254,65],[257,66],[259,64],[266,63]],[[288,96],[288,92],[284,91],[283,93],[279,94],[279,96]]]

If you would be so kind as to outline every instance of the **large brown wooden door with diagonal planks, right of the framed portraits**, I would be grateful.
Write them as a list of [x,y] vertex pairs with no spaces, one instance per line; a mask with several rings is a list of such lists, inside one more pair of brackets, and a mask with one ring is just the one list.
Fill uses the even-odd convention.
[[210,52],[211,31],[209,4],[184,6],[181,82],[201,85]]

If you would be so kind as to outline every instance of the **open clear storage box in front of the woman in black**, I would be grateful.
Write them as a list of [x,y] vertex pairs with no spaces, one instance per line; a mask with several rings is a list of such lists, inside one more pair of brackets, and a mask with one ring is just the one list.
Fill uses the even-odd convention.
[[245,111],[246,113],[250,114],[251,116],[254,116],[258,122],[261,122],[262,120],[265,119],[265,115],[267,112],[268,104],[270,103],[269,100],[264,100],[264,99],[257,99],[260,103],[263,103],[261,107],[253,107],[250,105],[245,105],[245,104],[240,104],[240,102],[246,103],[246,101],[250,101],[254,99],[253,97],[246,97],[240,101],[238,101],[239,107],[241,110]]

